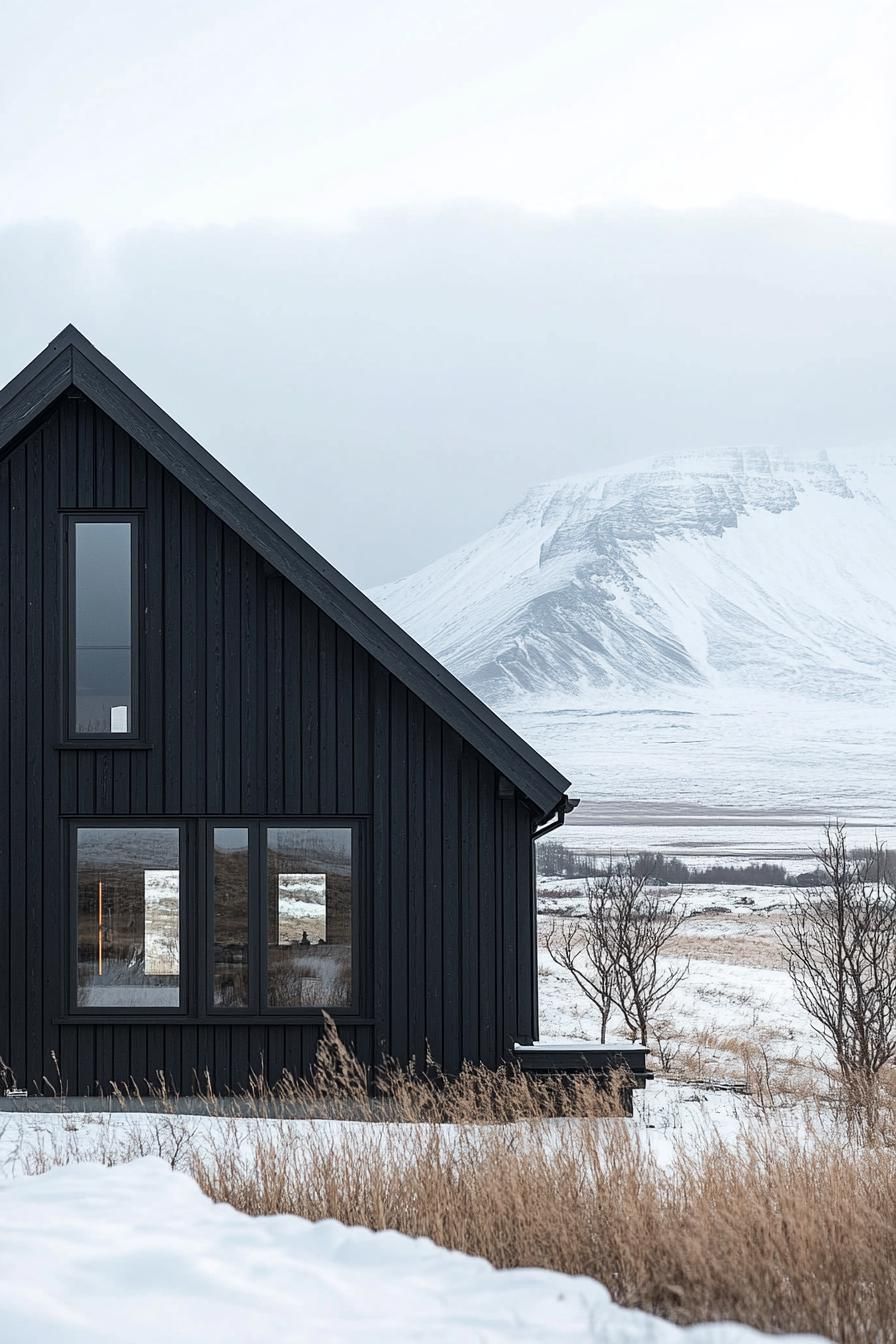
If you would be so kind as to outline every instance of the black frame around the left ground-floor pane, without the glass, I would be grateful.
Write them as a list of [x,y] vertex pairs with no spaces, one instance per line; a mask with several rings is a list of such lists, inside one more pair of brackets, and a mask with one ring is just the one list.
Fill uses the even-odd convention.
[[[69,950],[66,956],[67,985],[66,1004],[71,1017],[81,1021],[91,1019],[105,1020],[136,1020],[136,1021],[184,1021],[195,1016],[193,977],[189,974],[192,957],[192,938],[189,937],[189,886],[193,871],[189,825],[183,817],[77,817],[67,824],[69,862],[66,871],[69,875],[66,898],[69,902],[69,919],[64,926],[69,929]],[[177,892],[177,929],[180,938],[179,948],[179,1004],[176,1008],[161,1008],[159,1004],[148,1004],[141,1008],[136,1004],[126,1007],[110,1007],[78,1003],[78,832],[79,831],[176,831],[177,832],[177,859],[180,886]]]

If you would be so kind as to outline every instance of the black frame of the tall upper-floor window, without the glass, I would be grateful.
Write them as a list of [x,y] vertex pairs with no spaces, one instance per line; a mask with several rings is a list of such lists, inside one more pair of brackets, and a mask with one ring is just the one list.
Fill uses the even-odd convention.
[[[130,524],[130,726],[128,732],[79,732],[77,646],[77,524]],[[133,747],[142,742],[144,723],[144,515],[140,509],[66,509],[63,526],[62,726],[63,746]]]

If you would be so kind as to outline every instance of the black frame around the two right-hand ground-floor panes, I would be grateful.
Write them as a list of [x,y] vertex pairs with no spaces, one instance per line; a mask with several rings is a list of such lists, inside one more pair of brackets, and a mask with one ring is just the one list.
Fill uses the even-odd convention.
[[[352,836],[352,996],[341,1008],[271,1008],[267,1004],[267,831],[349,831]],[[215,1004],[215,831],[249,831],[249,1008]],[[365,825],[361,817],[254,816],[206,818],[204,1008],[215,1021],[274,1021],[320,1024],[357,1019],[361,1012],[361,891],[365,887]]]

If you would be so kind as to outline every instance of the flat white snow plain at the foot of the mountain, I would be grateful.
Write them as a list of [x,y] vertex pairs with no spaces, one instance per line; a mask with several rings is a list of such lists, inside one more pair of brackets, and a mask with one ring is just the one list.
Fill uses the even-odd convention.
[[501,712],[582,798],[896,820],[896,700],[880,695],[617,691],[575,708]]

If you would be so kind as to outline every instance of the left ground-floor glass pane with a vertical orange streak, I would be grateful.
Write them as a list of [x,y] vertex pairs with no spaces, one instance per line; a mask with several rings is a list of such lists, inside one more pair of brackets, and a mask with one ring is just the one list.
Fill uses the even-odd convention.
[[78,828],[78,1007],[180,1005],[180,836]]

